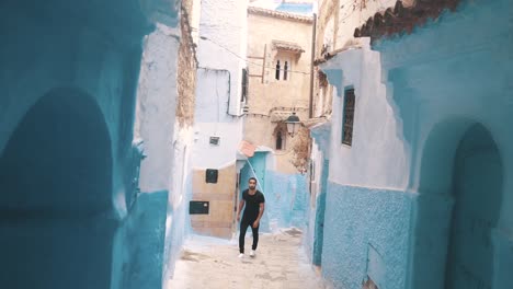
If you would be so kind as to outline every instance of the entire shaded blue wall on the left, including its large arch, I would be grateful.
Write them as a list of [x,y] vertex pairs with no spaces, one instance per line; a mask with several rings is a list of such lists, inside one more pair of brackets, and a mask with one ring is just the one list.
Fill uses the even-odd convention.
[[2,287],[158,285],[166,206],[153,204],[166,193],[136,199],[130,146],[141,41],[156,7],[1,1]]

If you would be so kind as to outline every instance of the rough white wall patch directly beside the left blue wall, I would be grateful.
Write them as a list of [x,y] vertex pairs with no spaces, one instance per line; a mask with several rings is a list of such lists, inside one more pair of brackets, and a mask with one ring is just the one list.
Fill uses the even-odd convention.
[[146,36],[137,88],[134,138],[142,139],[148,155],[140,166],[141,192],[169,189],[176,113],[179,32],[164,25]]

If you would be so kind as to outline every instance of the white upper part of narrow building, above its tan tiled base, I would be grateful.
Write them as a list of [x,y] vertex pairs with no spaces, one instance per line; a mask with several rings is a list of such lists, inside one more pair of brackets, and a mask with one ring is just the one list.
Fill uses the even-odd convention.
[[[195,2],[196,3],[196,2]],[[202,0],[197,46],[194,169],[233,164],[242,140],[241,77],[248,1]],[[219,144],[210,144],[218,137]]]

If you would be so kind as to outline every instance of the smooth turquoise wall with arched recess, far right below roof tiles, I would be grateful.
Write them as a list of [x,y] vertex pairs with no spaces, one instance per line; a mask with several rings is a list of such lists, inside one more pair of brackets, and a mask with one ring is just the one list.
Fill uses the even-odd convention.
[[[456,11],[445,11],[411,35],[375,45],[412,154],[409,189],[420,194],[409,288],[512,284],[511,274],[504,274],[513,259],[513,250],[504,247],[512,244],[506,232],[513,228],[513,138],[505,125],[513,112],[505,84],[513,63],[511,8],[508,0],[461,1]],[[487,132],[469,138],[466,134],[476,127]],[[469,150],[472,146],[479,149]],[[455,162],[460,150],[465,165]],[[477,197],[482,195],[486,200]]]

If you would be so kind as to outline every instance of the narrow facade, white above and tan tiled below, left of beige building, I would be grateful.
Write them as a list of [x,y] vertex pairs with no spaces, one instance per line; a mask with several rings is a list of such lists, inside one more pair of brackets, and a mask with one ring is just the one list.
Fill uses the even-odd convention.
[[[202,1],[198,20],[192,200],[208,212],[191,216],[195,232],[231,238],[237,154],[242,140],[247,1]],[[208,172],[208,175],[207,175]]]

